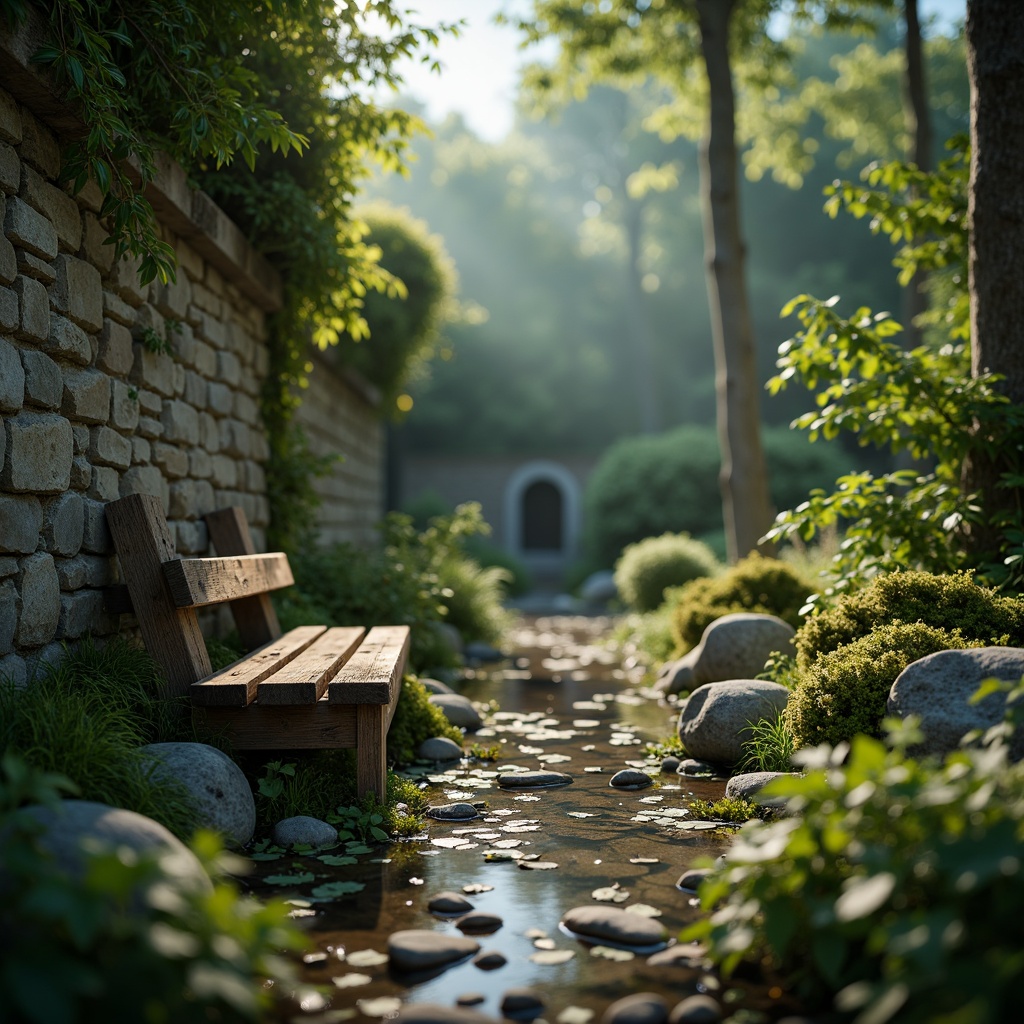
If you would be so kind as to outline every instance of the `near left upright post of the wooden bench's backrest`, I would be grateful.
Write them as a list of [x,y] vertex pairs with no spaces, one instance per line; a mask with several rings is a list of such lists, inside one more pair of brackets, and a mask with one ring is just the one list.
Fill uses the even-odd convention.
[[106,506],[106,522],[146,649],[164,670],[162,696],[183,696],[210,675],[210,658],[196,612],[171,597],[162,565],[174,558],[160,500],[129,495]]

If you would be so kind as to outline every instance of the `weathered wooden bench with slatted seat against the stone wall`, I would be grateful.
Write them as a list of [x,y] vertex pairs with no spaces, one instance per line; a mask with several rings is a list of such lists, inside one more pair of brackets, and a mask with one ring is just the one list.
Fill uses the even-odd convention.
[[[131,610],[167,677],[163,695],[188,695],[194,715],[239,750],[352,749],[362,797],[383,801],[385,742],[409,655],[408,626],[282,635],[269,591],[294,581],[288,557],[258,555],[245,515],[206,516],[217,558],[174,553],[161,503],[131,495],[106,506]],[[196,609],[230,602],[247,656],[213,672]]]

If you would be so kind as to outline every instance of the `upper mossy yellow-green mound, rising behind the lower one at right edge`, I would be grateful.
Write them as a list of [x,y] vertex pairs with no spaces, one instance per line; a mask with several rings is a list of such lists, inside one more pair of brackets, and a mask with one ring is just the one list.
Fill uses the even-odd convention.
[[877,626],[896,621],[958,630],[965,640],[1024,646],[1024,600],[979,587],[970,572],[890,572],[842,597],[797,631],[797,660],[808,669]]

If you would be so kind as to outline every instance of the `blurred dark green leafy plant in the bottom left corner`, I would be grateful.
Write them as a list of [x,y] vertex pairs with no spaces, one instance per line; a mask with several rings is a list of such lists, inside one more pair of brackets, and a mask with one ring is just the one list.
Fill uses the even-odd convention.
[[32,822],[11,816],[23,804],[53,805],[71,783],[10,753],[2,769],[0,1019],[268,1019],[273,993],[295,980],[280,953],[306,943],[284,903],[241,896],[226,881],[239,861],[223,856],[214,836],[193,843],[215,880],[210,891],[165,869],[167,854],[120,850],[87,852],[84,877],[72,880],[37,845]]

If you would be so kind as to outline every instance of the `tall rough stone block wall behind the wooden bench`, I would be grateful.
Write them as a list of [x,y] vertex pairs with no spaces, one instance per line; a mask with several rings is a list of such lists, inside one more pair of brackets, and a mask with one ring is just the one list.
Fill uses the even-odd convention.
[[[18,684],[63,643],[133,623],[104,609],[106,502],[159,497],[185,555],[209,553],[206,512],[240,505],[263,550],[258,397],[281,304],[273,270],[170,161],[146,198],[176,282],[142,287],[115,262],[98,190],[57,184],[81,125],[31,65],[39,42],[0,26],[0,678]],[[310,396],[317,449],[349,455],[322,481],[350,506],[325,507],[328,536],[362,537],[383,486],[376,409],[338,375],[314,375]]]

